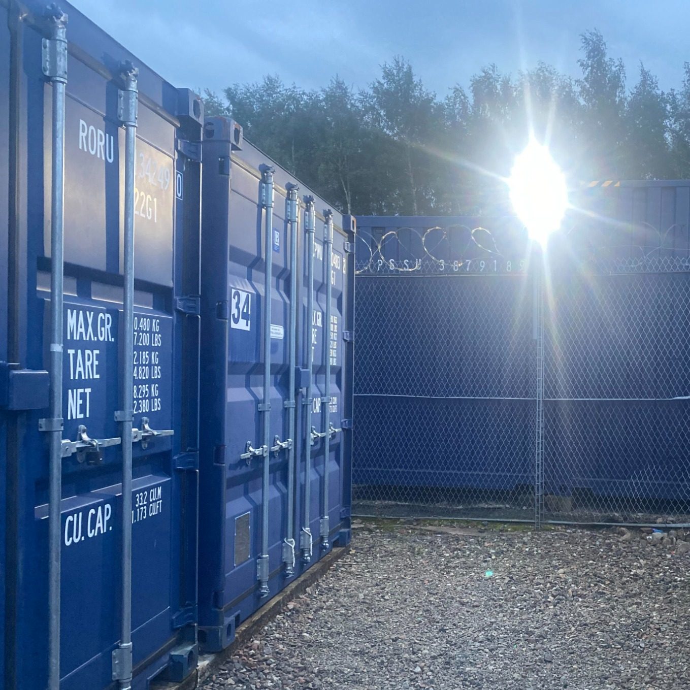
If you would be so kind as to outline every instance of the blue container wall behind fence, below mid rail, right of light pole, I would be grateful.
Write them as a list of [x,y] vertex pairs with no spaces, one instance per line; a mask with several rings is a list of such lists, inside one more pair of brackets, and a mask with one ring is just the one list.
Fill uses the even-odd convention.
[[635,511],[651,500],[686,506],[689,422],[683,401],[546,401],[547,490],[581,504],[593,495],[620,497]]

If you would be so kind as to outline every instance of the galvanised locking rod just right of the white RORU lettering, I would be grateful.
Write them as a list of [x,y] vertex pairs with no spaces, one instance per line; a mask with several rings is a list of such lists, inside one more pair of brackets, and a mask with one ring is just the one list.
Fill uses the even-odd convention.
[[134,396],[134,197],[137,148],[137,75],[131,63],[121,67],[124,88],[119,92],[118,117],[125,128],[124,190],[124,303],[122,305],[123,339],[121,402],[116,420],[122,438],[122,591],[121,633],[118,649],[113,652],[113,680],[121,690],[132,687],[132,400]]

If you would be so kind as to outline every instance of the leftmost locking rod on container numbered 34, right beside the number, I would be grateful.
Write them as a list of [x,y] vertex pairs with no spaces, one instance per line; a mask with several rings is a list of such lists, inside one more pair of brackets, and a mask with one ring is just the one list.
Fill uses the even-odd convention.
[[[274,169],[264,168],[261,183],[261,204],[264,207],[264,397],[262,411],[264,422],[264,448],[273,445],[270,437],[270,300],[273,284],[273,259],[270,255],[273,245],[273,172]],[[268,500],[270,498],[270,453],[264,453],[262,477],[262,526],[261,526],[261,555],[257,560],[257,580],[259,580],[259,595],[268,596]]]

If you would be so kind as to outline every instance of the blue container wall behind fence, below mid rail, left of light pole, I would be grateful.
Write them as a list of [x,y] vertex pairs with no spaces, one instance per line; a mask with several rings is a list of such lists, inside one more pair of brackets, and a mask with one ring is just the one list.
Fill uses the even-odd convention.
[[413,490],[420,487],[533,484],[533,407],[524,400],[357,397],[353,482],[398,487],[404,497],[419,496]]

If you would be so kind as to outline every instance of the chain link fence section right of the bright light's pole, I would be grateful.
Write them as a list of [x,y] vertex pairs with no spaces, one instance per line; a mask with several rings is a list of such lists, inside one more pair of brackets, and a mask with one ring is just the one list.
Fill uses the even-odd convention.
[[690,517],[690,273],[673,257],[560,269],[544,292],[549,517]]

